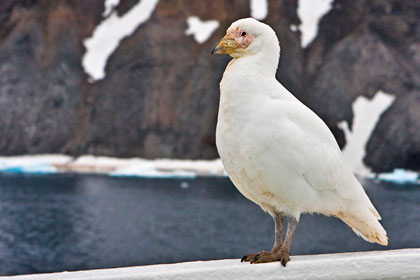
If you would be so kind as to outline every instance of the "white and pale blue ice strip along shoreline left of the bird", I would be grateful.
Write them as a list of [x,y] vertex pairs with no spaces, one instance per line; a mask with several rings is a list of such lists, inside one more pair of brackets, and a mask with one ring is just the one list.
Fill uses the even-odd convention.
[[[55,173],[78,172],[164,178],[226,176],[220,159],[177,160],[142,158],[111,158],[84,155],[76,159],[65,155],[27,155],[0,157],[0,172]],[[185,185],[185,184],[184,184]]]

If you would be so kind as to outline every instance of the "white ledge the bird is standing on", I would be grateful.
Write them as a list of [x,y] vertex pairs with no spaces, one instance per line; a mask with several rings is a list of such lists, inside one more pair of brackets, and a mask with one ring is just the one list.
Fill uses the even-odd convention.
[[292,256],[279,263],[197,261],[140,267],[0,277],[11,280],[131,279],[420,279],[420,249]]

